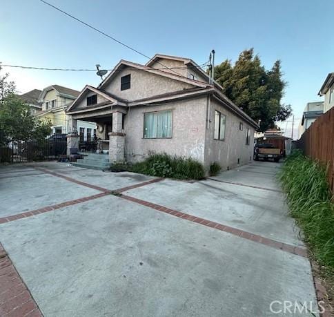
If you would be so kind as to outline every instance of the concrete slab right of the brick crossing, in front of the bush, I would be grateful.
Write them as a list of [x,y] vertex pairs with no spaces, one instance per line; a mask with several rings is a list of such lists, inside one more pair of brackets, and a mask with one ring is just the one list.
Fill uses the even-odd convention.
[[283,193],[213,180],[193,184],[164,180],[159,186],[149,184],[125,193],[279,242],[304,245],[295,221],[288,216]]

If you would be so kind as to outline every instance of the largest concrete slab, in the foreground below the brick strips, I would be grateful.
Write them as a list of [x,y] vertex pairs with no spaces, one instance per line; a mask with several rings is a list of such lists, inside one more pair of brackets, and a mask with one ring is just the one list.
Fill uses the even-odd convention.
[[316,305],[306,258],[112,195],[0,224],[0,241],[45,316],[279,316],[273,300]]

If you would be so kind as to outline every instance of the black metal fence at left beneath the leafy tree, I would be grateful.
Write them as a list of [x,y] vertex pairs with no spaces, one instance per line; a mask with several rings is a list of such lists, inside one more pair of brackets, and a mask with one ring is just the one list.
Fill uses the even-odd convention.
[[66,155],[66,137],[50,137],[41,141],[10,141],[0,146],[0,162],[21,163],[57,160]]

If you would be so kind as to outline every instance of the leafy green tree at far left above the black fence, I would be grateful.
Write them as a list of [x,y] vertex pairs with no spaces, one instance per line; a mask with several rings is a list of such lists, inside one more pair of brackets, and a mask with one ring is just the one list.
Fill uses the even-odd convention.
[[49,121],[30,115],[28,105],[14,94],[2,99],[0,106],[1,143],[42,140],[51,133]]

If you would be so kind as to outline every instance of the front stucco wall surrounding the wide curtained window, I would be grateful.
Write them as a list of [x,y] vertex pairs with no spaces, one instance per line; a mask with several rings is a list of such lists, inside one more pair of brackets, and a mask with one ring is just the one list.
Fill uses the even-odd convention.
[[[172,112],[170,139],[144,139],[144,113]],[[132,107],[125,117],[126,159],[143,160],[149,151],[193,157],[204,163],[206,97],[166,104],[163,106]]]

